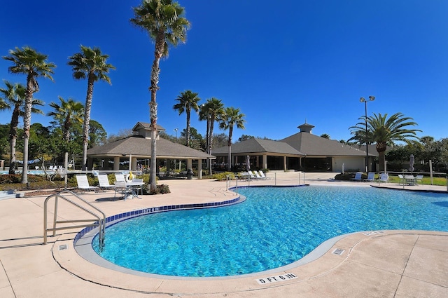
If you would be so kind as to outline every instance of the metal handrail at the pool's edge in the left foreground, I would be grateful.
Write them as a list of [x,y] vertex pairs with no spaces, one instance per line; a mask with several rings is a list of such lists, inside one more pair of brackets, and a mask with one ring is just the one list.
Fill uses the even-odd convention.
[[[83,201],[86,205],[88,205],[90,208],[96,210],[97,212],[101,213],[101,216],[98,215],[95,212],[92,212],[92,210],[88,210],[87,208],[81,206],[80,204],[76,203],[75,201],[72,201],[69,198],[66,198],[66,196],[62,196],[62,194],[70,194],[72,196],[75,196],[75,198],[78,198],[78,200]],[[53,213],[53,226],[52,228],[48,228],[48,201],[50,198],[55,197],[55,212]],[[62,198],[62,200],[71,203],[72,205],[80,208],[81,210],[89,213],[94,219],[73,219],[73,220],[57,220],[57,208],[58,208],[58,200],[59,198]],[[76,223],[76,222],[90,222],[90,224],[78,224],[76,226],[60,226],[57,227],[56,224],[69,224],[69,223]],[[87,226],[99,226],[99,245],[104,245],[104,231],[106,229],[106,215],[102,210],[99,210],[99,208],[95,207],[91,203],[85,201],[85,199],[81,198],[77,194],[73,193],[73,191],[69,191],[68,189],[65,189],[63,191],[60,191],[57,194],[52,194],[45,198],[45,202],[43,204],[43,244],[47,244],[47,235],[49,231],[52,231],[52,236],[55,236],[56,231],[64,230],[64,229],[78,229],[83,228]]]

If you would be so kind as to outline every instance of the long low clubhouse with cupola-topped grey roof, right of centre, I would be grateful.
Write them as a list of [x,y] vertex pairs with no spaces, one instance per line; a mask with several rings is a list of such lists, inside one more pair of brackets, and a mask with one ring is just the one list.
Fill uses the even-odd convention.
[[[299,133],[279,141],[250,139],[232,144],[232,165],[250,157],[251,166],[269,170],[306,170],[344,172],[365,170],[366,153],[356,147],[328,140],[311,133],[308,123],[298,126]],[[214,149],[216,163],[228,163],[228,147]],[[374,152],[369,152],[372,170]]]

